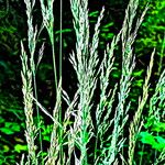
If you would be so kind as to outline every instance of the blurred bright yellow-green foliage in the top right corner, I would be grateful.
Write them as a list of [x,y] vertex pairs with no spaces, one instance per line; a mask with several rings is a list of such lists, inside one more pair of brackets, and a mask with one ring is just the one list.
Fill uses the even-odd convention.
[[[141,11],[146,3],[147,0],[140,1]],[[151,0],[148,7],[140,29],[140,37],[136,40],[136,51],[142,56],[153,50],[153,47],[156,47],[157,55],[161,56],[165,33],[165,1]]]

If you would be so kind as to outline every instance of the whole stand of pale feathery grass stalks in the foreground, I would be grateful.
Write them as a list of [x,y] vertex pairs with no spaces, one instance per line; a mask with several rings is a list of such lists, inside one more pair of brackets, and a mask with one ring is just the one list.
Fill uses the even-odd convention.
[[[143,110],[146,108],[147,100],[150,102],[147,120],[154,119],[157,122],[163,122],[165,114],[163,111],[165,108],[165,70],[161,74],[155,88],[155,94],[151,97],[148,96],[150,77],[152,75],[155,53],[155,51],[153,51],[150,66],[146,70],[143,94],[142,96],[139,96],[138,107],[134,107],[133,120],[129,122],[129,119],[131,119],[129,117],[131,101],[128,100],[128,98],[133,81],[132,73],[135,67],[133,43],[148,4],[146,4],[143,13],[135,21],[139,0],[130,0],[128,9],[125,10],[122,29],[119,34],[113,37],[111,44],[107,45],[102,61],[100,61],[98,54],[99,28],[103,18],[105,8],[100,11],[100,15],[95,25],[94,35],[90,38],[88,1],[70,0],[70,10],[74,18],[74,29],[76,34],[76,50],[70,54],[69,61],[77,76],[77,91],[74,99],[70,99],[68,94],[62,87],[62,33],[59,73],[57,73],[56,68],[57,62],[55,55],[53,15],[54,0],[47,0],[46,3],[43,0],[40,0],[43,15],[43,25],[40,31],[33,25],[32,13],[35,1],[31,2],[31,0],[24,0],[24,2],[26,4],[30,56],[24,51],[23,43],[21,42],[21,75],[23,82],[24,113],[26,118],[25,138],[29,152],[28,156],[22,156],[20,164],[133,165],[138,164],[139,161],[141,162],[140,164],[143,164],[143,157],[140,157],[139,160],[135,160],[134,157],[136,154],[136,144],[139,143],[139,134],[146,122],[143,117]],[[61,1],[61,31],[62,21]],[[53,55],[54,88],[56,97],[54,99],[55,107],[52,110],[52,114],[37,101],[35,75],[41,58],[44,55],[44,43],[40,50],[37,62],[35,62],[34,56],[36,54],[37,38],[43,29],[46,29],[50,36]],[[114,53],[117,47],[120,46],[120,42],[122,43],[121,77],[114,88],[109,89],[111,72],[113,70],[116,61]],[[95,102],[94,96],[97,88],[100,89],[99,101]],[[62,114],[63,101],[68,106],[64,116]],[[97,106],[94,106],[94,102]],[[37,123],[34,122],[34,110],[37,111]],[[47,150],[46,155],[43,154],[40,110],[48,116],[53,123],[50,148]],[[128,131],[125,131],[125,128],[129,128]],[[129,132],[128,136],[125,136],[125,132]],[[37,138],[40,139],[40,144],[36,142]],[[127,152],[125,145],[128,145]],[[154,165],[161,163],[165,157],[164,148],[160,152],[155,150]]]

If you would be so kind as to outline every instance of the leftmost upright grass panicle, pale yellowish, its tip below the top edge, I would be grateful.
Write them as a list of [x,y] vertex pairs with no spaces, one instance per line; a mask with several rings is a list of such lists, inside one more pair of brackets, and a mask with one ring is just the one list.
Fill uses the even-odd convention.
[[32,86],[32,70],[30,69],[28,65],[28,55],[24,51],[23,43],[21,43],[21,50],[22,50],[22,91],[23,91],[23,101],[24,101],[24,113],[25,113],[25,123],[26,123],[26,130],[25,130],[25,138],[28,143],[28,151],[29,151],[29,158],[28,164],[37,164],[36,158],[36,145],[35,145],[35,138],[37,133],[37,129],[34,124],[33,120],[33,99],[31,96],[33,96],[33,86]]

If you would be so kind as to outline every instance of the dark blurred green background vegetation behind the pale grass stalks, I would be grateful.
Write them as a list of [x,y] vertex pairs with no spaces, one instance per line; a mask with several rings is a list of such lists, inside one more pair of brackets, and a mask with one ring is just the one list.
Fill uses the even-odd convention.
[[[124,12],[129,1],[89,1],[89,23],[90,35],[92,36],[97,18],[100,14],[101,7],[105,6],[105,16],[101,21],[99,33],[99,46],[98,52],[102,54],[107,44],[110,43],[114,35],[119,33],[122,28]],[[138,18],[144,10],[146,0],[140,0],[138,10]],[[0,1],[0,164],[15,164],[20,162],[22,153],[28,154],[26,140],[24,136],[25,129],[25,116],[24,105],[22,97],[22,80],[21,80],[21,46],[22,40],[25,48],[28,50],[28,23],[26,23],[26,7],[23,1],[20,0],[7,0]],[[59,20],[59,1],[54,3],[54,41],[55,41],[55,54],[59,56],[61,34],[63,34],[63,88],[67,91],[70,98],[74,97],[77,88],[76,74],[68,61],[72,51],[76,50],[76,36],[73,25],[73,14],[70,10],[70,3],[65,2],[63,6],[63,31],[61,31]],[[164,46],[165,46],[165,1],[154,0],[150,2],[148,11],[145,19],[139,30],[138,38],[133,44],[134,53],[136,55],[136,65],[133,70],[133,82],[130,90],[128,100],[132,102],[131,110],[129,112],[130,120],[133,120],[134,109],[139,106],[139,97],[143,95],[143,85],[145,84],[146,68],[151,59],[151,53],[156,47],[154,55],[154,67],[150,80],[150,97],[155,94],[155,87],[158,82],[158,77],[164,69]],[[40,2],[33,9],[34,24],[42,24],[42,15],[40,9]],[[62,33],[61,33],[62,32]],[[54,89],[54,74],[52,65],[52,43],[48,38],[46,30],[43,30],[38,40],[40,50],[42,43],[45,42],[44,56],[41,65],[38,65],[36,74],[37,82],[37,96],[38,102],[51,112],[54,108],[55,89]],[[116,51],[114,68],[111,73],[110,87],[112,88],[121,76],[121,48]],[[59,61],[58,58],[56,59]],[[57,63],[59,68],[59,63]],[[59,70],[57,70],[58,73]],[[57,78],[59,76],[57,75]],[[158,90],[158,89],[157,89]],[[164,94],[164,86],[163,86]],[[97,94],[94,97],[94,101],[99,98],[99,89],[96,89]],[[158,95],[158,94],[156,94]],[[163,96],[164,97],[164,96]],[[155,101],[154,98],[152,101]],[[117,102],[114,102],[117,105]],[[95,107],[95,106],[94,106]],[[64,108],[66,105],[64,103]],[[150,108],[150,101],[146,101],[145,108]],[[164,102],[156,105],[156,108],[164,110]],[[52,112],[51,112],[52,113]],[[50,145],[50,135],[52,132],[52,121],[50,117],[42,113],[42,139],[43,151],[46,152]],[[161,114],[164,117],[164,112]],[[147,111],[143,112],[143,127],[138,139],[138,145],[135,147],[134,162],[136,164],[152,164],[152,157],[158,157],[161,152],[165,148],[165,121],[160,119],[158,114]],[[34,112],[34,122],[37,120],[37,113]],[[129,123],[130,124],[130,123]],[[128,125],[129,125],[128,124]],[[125,125],[125,127],[128,127]],[[92,141],[92,139],[91,139]],[[128,148],[128,146],[125,146]],[[45,153],[44,153],[45,154]],[[44,155],[43,154],[43,155]],[[154,155],[154,156],[153,156]],[[123,155],[124,156],[124,155]],[[145,157],[145,158],[143,158]],[[90,160],[90,158],[89,158]],[[92,164],[92,163],[91,163]],[[156,163],[155,163],[156,164]],[[164,162],[160,162],[164,164]]]

